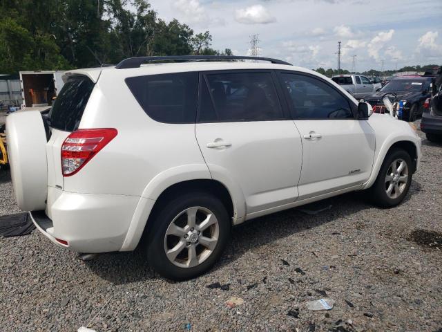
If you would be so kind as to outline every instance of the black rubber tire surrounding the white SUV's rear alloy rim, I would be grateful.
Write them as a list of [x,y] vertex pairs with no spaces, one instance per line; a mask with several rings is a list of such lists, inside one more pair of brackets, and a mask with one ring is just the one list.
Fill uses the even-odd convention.
[[[218,220],[218,242],[209,257],[202,261],[201,264],[184,268],[176,266],[166,256],[164,239],[173,219],[184,210],[192,207],[206,208],[215,215]],[[229,241],[231,231],[229,214],[219,199],[206,192],[181,194],[161,205],[160,210],[153,217],[153,223],[146,230],[146,234],[148,234],[145,245],[147,259],[157,273],[160,273],[160,275],[167,279],[180,281],[192,279],[206,273],[218,261],[227,245],[227,241]],[[195,246],[198,247],[198,245]],[[199,246],[202,245],[200,244]]]

